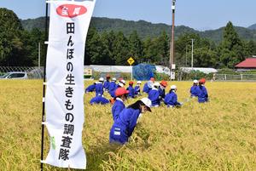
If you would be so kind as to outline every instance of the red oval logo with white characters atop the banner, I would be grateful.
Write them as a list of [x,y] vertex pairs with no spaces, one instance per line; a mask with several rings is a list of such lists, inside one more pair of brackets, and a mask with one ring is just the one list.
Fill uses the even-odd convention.
[[81,14],[85,14],[87,9],[81,5],[64,4],[56,9],[57,14],[62,17],[73,18]]

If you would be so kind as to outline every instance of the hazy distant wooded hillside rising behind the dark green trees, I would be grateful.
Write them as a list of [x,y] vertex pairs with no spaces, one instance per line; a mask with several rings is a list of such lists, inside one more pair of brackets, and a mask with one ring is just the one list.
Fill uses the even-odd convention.
[[[32,28],[44,29],[44,17],[21,20],[21,23],[26,30],[31,30]],[[171,33],[171,26],[166,24],[153,24],[144,20],[132,21],[93,17],[90,26],[96,27],[97,31],[100,32],[123,31],[125,36],[130,35],[132,31],[136,30],[138,35],[143,39],[146,37],[158,37],[161,31]],[[256,41],[256,30],[253,30],[253,26],[250,26],[250,28],[236,26],[235,28],[241,39]],[[195,31],[188,26],[176,26],[175,35],[178,37],[185,32],[193,32],[198,33],[201,37],[211,39],[215,43],[219,43],[222,40],[223,30],[224,27],[211,31]]]

